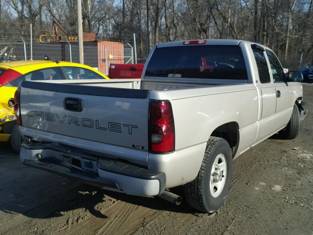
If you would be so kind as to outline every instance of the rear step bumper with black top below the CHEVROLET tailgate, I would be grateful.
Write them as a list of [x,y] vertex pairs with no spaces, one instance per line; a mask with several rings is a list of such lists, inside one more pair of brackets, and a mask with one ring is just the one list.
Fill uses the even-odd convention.
[[56,143],[22,143],[20,158],[24,165],[130,195],[160,195],[166,185],[164,172]]

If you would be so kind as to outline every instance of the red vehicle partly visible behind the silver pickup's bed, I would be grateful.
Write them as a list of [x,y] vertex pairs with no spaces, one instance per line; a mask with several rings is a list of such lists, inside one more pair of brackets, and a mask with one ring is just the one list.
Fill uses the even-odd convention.
[[110,79],[114,78],[141,78],[144,64],[111,64]]

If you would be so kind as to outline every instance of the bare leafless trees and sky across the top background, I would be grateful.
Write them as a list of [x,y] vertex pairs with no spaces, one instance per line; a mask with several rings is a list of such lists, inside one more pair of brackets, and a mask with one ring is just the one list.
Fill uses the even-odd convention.
[[[0,0],[0,37],[52,32],[52,18],[76,32],[77,0]],[[138,57],[184,39],[242,39],[272,48],[283,67],[313,64],[313,0],[82,0],[83,28],[99,39],[129,40]]]

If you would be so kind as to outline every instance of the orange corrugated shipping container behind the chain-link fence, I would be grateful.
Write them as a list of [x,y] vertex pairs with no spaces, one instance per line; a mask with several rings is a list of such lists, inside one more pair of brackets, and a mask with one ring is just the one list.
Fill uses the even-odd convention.
[[98,41],[98,70],[108,74],[110,64],[124,64],[124,43]]

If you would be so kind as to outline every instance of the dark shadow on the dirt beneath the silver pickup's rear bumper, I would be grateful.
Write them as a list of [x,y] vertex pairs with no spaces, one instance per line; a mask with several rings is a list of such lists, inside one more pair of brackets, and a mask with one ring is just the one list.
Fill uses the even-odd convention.
[[[106,207],[112,206],[112,201],[157,211],[199,213],[190,208],[184,198],[181,205],[176,206],[158,197],[112,192],[29,168],[22,165],[19,155],[10,148],[0,147],[0,211],[5,213],[52,218],[62,216],[65,211],[83,209],[97,218],[108,218]],[[182,187],[172,191],[183,197]]]

